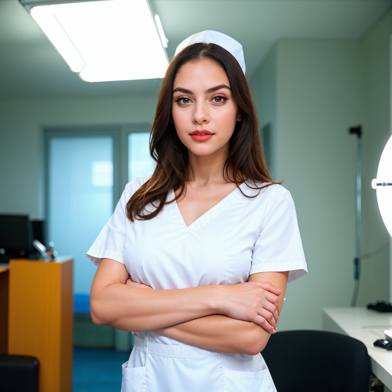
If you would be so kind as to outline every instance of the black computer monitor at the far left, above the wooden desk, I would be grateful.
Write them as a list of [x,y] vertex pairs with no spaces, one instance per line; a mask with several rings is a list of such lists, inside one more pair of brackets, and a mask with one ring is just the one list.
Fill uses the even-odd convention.
[[5,254],[19,257],[33,252],[33,225],[29,215],[0,214],[0,248]]

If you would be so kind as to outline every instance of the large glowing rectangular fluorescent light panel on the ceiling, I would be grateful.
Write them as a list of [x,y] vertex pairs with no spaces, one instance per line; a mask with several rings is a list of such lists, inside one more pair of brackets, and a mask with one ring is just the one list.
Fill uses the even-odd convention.
[[147,0],[37,5],[30,13],[71,71],[86,82],[165,75],[167,39]]

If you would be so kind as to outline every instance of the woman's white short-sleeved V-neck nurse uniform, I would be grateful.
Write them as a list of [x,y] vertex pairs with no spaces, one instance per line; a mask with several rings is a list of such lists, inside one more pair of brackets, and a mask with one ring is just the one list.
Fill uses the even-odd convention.
[[[270,185],[254,198],[235,189],[189,226],[175,201],[155,218],[132,223],[125,205],[148,179],[138,177],[125,186],[87,252],[94,264],[116,260],[133,281],[153,289],[234,285],[256,272],[289,270],[288,282],[307,274],[294,202],[281,185]],[[245,181],[241,190],[256,195],[246,182],[252,184]],[[167,200],[173,198],[171,190]],[[261,354],[214,352],[152,331],[134,336],[134,349],[122,367],[122,392],[276,392]]]

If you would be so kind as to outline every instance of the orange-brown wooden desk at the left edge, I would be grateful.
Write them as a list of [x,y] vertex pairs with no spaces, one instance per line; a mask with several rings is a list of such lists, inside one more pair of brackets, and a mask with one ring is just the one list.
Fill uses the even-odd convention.
[[10,260],[8,354],[38,358],[39,392],[72,391],[73,259]]

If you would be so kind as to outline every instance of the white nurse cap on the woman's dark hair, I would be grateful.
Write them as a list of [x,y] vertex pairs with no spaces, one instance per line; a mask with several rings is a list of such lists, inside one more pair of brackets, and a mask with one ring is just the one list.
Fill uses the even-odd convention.
[[204,42],[205,44],[216,44],[223,47],[223,49],[226,49],[236,58],[238,64],[240,64],[242,68],[243,73],[245,74],[245,60],[242,45],[234,38],[231,38],[226,34],[219,33],[218,31],[206,30],[202,31],[201,33],[191,35],[190,37],[183,40],[180,45],[177,46],[176,53],[174,54],[174,56],[176,56],[177,53],[179,53],[185,47],[191,44],[195,44],[196,42]]

